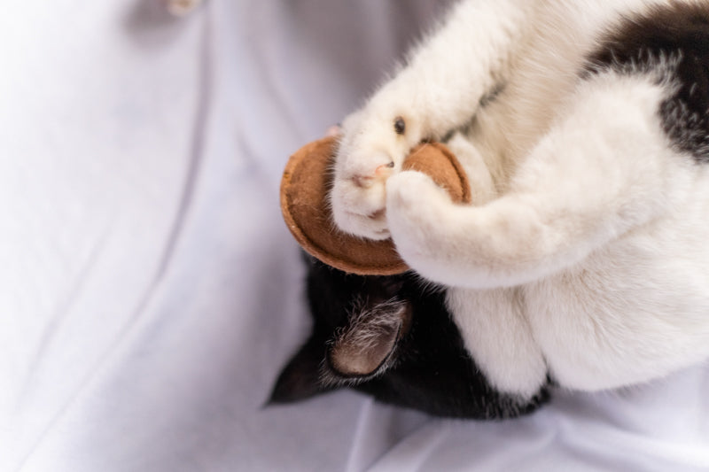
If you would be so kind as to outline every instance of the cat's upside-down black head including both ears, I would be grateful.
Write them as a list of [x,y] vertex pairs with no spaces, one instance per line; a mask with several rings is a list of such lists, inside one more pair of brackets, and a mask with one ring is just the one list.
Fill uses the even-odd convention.
[[269,404],[341,387],[429,414],[479,419],[533,411],[495,391],[465,350],[445,293],[417,275],[347,275],[307,258],[313,329],[278,375]]

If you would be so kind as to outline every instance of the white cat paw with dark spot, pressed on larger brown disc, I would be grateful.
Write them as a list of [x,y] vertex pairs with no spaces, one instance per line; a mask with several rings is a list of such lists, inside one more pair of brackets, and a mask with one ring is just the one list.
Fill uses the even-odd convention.
[[[386,111],[384,111],[386,110]],[[347,233],[386,239],[386,182],[401,172],[420,135],[395,106],[370,104],[342,126],[330,194],[332,215]]]

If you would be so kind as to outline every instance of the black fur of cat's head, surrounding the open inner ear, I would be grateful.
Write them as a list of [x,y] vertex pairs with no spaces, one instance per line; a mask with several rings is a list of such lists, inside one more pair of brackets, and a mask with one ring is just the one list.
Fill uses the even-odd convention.
[[279,376],[272,402],[331,390],[332,383],[323,383],[318,369],[330,368],[325,361],[328,345],[347,325],[347,313],[356,300],[372,306],[391,298],[409,303],[412,312],[408,331],[391,354],[390,367],[373,378],[352,383],[343,378],[342,383],[379,401],[457,418],[510,418],[534,411],[548,398],[543,389],[530,400],[495,391],[464,349],[445,308],[444,294],[426,290],[416,275],[346,275],[314,259],[308,259],[308,265],[313,334]]

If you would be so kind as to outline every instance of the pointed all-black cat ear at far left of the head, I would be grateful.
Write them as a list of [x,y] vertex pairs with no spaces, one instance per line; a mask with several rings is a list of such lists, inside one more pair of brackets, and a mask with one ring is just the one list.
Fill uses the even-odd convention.
[[311,337],[288,361],[278,375],[267,406],[303,400],[334,388],[319,381],[320,364],[324,358],[323,344]]

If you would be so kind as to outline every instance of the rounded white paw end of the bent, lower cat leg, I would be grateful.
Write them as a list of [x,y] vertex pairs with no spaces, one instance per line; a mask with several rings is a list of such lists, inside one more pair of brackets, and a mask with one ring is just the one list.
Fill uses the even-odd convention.
[[[431,177],[406,171],[387,183],[387,223],[397,251],[419,270],[435,264],[440,228],[452,204]],[[424,275],[424,272],[421,272]]]

